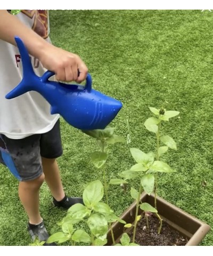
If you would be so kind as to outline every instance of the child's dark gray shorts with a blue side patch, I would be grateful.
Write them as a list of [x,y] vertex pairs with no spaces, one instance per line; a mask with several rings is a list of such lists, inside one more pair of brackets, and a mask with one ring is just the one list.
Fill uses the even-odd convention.
[[43,173],[42,157],[57,158],[62,153],[59,120],[51,131],[23,139],[0,134],[0,162],[20,181],[34,180]]

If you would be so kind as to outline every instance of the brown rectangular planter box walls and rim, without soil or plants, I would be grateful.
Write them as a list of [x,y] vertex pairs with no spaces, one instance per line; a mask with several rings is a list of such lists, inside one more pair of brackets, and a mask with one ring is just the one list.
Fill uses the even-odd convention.
[[[154,206],[154,195],[148,195],[146,193],[142,193],[141,201],[144,203],[149,203]],[[157,197],[157,208],[158,213],[163,219],[163,221],[167,222],[171,227],[176,229],[180,234],[185,236],[188,240],[186,246],[189,245],[199,245],[202,239],[206,236],[206,234],[210,231],[210,226],[206,223],[196,219],[192,215],[182,211],[178,207],[173,204],[168,203],[161,197]],[[135,210],[136,210],[136,201],[130,205],[125,212],[120,216],[121,219],[125,220],[127,223],[134,223],[135,218]],[[139,214],[142,213],[140,210]],[[114,222],[112,225],[114,239],[116,243],[119,243],[120,237],[124,233],[124,224],[120,222]],[[126,229],[125,232],[128,233],[130,230]],[[112,245],[112,238],[110,230],[108,231],[108,243],[106,245]]]

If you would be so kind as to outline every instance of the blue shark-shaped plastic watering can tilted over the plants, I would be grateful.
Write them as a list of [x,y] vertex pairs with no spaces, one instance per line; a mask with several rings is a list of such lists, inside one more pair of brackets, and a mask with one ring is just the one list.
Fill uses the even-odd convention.
[[51,114],[60,114],[66,122],[80,130],[104,129],[117,116],[122,103],[93,90],[91,75],[87,75],[85,86],[49,81],[54,75],[52,71],[38,77],[23,42],[19,37],[15,37],[15,42],[21,54],[23,79],[6,94],[6,99],[36,91],[50,103]]

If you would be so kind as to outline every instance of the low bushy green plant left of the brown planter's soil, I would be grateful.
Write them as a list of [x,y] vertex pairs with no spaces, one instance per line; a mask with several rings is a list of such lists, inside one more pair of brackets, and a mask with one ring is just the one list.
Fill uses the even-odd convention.
[[[104,245],[107,243],[106,235],[109,223],[120,220],[110,209],[109,205],[100,202],[103,198],[103,185],[100,180],[92,181],[84,189],[84,204],[75,204],[70,207],[67,215],[59,223],[61,232],[51,235],[47,243],[64,243],[70,241],[72,245],[76,243],[87,243],[90,245]],[[76,226],[85,223],[89,233]]]

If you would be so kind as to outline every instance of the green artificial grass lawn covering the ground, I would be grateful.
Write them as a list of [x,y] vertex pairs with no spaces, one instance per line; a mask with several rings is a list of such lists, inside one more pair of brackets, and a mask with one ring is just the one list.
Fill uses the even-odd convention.
[[[154,134],[143,125],[150,107],[180,112],[163,125],[174,138],[177,151],[163,156],[177,172],[162,174],[159,195],[213,226],[212,161],[212,33],[213,14],[200,10],[63,10],[50,11],[52,43],[75,52],[85,61],[93,87],[121,100],[129,118],[131,143],[109,147],[109,178],[134,164],[129,147],[148,153]],[[168,103],[167,103],[168,102]],[[118,115],[111,126],[126,137],[125,119]],[[94,139],[61,122],[64,154],[59,158],[65,192],[80,196],[84,186],[102,173],[89,154]],[[136,183],[132,183],[137,188]],[[27,217],[17,193],[18,181],[0,167],[0,245],[28,245]],[[110,205],[120,214],[132,203],[127,187],[110,188]],[[50,233],[65,212],[53,208],[42,186],[41,212]],[[201,245],[213,245],[213,231]]]

